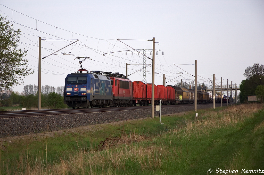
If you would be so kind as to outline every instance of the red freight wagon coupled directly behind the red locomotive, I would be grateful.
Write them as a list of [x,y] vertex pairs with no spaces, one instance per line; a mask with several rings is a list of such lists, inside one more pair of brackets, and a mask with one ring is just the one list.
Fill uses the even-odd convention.
[[147,85],[142,81],[134,81],[132,83],[132,99],[134,106],[139,104],[139,106],[148,105],[147,101]]

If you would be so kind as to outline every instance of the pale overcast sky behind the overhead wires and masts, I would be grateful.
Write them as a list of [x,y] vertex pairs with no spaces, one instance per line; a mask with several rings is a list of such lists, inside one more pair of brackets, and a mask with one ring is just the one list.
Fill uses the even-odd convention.
[[[181,79],[191,82],[197,60],[198,83],[209,84],[212,74],[240,84],[244,70],[264,64],[264,1],[13,1],[3,0],[0,13],[14,28],[22,29],[20,46],[34,74],[25,84],[38,84],[38,37],[78,39],[75,44],[41,60],[41,85],[64,85],[68,73],[80,66],[77,56],[89,56],[82,66],[132,74],[142,69],[142,55],[131,49],[155,49],[155,84],[174,85]],[[6,7],[4,7],[6,6]],[[13,23],[14,22],[14,23]],[[128,39],[128,40],[116,40]],[[131,39],[131,40],[129,40]],[[134,39],[134,40],[133,40]],[[41,57],[59,50],[70,41],[41,41]],[[124,51],[119,52],[117,51]],[[70,52],[70,53],[69,53]],[[103,56],[103,53],[116,52]],[[58,54],[57,53],[57,54]],[[68,53],[62,54],[62,53]],[[152,58],[150,53],[147,56]],[[152,61],[147,59],[147,64]],[[177,64],[174,65],[174,64]],[[181,65],[188,64],[188,65]],[[147,83],[151,83],[151,65]],[[142,81],[142,70],[129,76]],[[177,78],[176,78],[177,77]],[[219,81],[218,81],[219,82]],[[23,91],[23,86],[14,86]]]

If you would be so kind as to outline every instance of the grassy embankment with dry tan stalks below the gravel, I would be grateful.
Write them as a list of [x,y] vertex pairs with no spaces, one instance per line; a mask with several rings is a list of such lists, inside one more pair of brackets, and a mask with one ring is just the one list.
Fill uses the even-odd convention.
[[133,120],[96,125],[83,133],[5,142],[0,174],[207,174],[209,168],[211,174],[217,168],[242,174],[242,169],[264,170],[263,105],[198,113],[198,119],[193,111],[162,117],[164,125],[158,118]]

